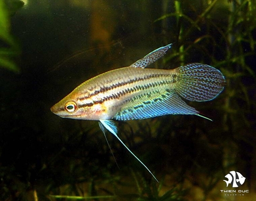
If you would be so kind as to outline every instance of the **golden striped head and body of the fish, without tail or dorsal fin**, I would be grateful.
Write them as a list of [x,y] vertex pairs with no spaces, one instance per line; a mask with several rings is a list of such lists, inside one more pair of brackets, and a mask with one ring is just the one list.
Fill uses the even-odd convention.
[[[178,73],[177,69],[134,67],[111,70],[79,85],[66,98],[55,104],[52,111],[61,117],[86,120],[112,118],[129,120],[153,117],[156,115],[124,114],[149,104],[149,100],[157,102],[160,94],[165,94],[166,90],[173,90]],[[76,105],[76,111],[68,112],[65,104],[72,102]]]

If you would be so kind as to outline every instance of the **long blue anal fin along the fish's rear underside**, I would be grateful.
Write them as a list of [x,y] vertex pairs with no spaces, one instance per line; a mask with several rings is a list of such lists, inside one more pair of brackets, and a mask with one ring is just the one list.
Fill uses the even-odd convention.
[[[130,103],[125,104],[121,111],[117,112],[114,119],[143,119],[162,115],[177,114],[201,116],[198,114],[199,112],[195,108],[188,106],[188,104],[184,102],[174,91],[165,90],[163,92],[156,91],[154,93],[155,94],[150,94],[150,99],[142,101],[141,98],[134,98],[134,100],[132,99]],[[145,97],[148,97],[148,94],[145,95]]]

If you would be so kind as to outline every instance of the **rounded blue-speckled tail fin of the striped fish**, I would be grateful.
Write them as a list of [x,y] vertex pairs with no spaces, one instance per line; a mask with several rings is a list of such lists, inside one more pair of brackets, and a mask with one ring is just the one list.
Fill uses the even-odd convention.
[[201,63],[189,63],[178,68],[179,81],[175,91],[189,101],[209,101],[223,90],[225,78],[221,72]]

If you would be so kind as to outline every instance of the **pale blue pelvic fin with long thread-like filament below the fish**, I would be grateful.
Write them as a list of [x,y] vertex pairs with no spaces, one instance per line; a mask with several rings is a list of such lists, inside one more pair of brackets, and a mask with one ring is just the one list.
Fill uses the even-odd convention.
[[116,124],[113,120],[106,120],[106,119],[100,119],[100,128],[102,130],[103,133],[105,133],[105,128],[107,128],[107,130],[114,134],[116,136],[116,138],[123,144],[123,146],[137,159],[139,160],[139,162],[147,169],[147,171],[154,177],[154,179],[158,182],[158,180],[156,179],[156,177],[154,176],[153,173],[151,173],[151,171],[149,170],[149,168],[144,165],[141,160],[135,156],[133,154],[133,152],[125,145],[125,143],[117,136],[117,127]]

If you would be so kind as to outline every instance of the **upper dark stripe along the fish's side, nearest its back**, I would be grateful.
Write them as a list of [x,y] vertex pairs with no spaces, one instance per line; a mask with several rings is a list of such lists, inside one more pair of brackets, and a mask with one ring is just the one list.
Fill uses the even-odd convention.
[[[88,99],[88,98],[91,98],[93,97],[94,95],[97,95],[99,93],[104,93],[104,92],[107,92],[109,90],[113,90],[117,87],[121,87],[121,86],[124,86],[126,84],[132,84],[132,83],[136,83],[136,82],[139,82],[139,81],[145,81],[146,79],[150,79],[150,78],[156,78],[156,77],[170,77],[170,76],[173,76],[172,74],[152,74],[152,75],[147,75],[145,77],[139,77],[139,78],[135,78],[135,79],[130,79],[129,81],[124,81],[124,82],[121,82],[121,83],[116,83],[116,84],[113,84],[113,85],[110,85],[110,86],[103,86],[103,87],[100,87],[100,90],[96,90],[94,91],[93,93],[89,94],[89,95],[86,95],[85,97],[83,98],[78,98],[79,100],[85,100],[85,99]],[[176,75],[175,75],[176,76]],[[174,77],[173,77],[174,78]],[[149,83],[150,84],[150,83]],[[154,83],[151,84],[152,87],[154,87]],[[143,90],[143,89],[142,89]],[[122,92],[120,92],[122,93]],[[125,95],[125,94],[121,94],[121,95]]]

